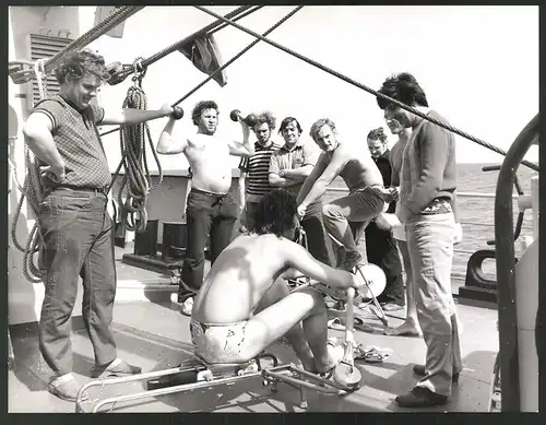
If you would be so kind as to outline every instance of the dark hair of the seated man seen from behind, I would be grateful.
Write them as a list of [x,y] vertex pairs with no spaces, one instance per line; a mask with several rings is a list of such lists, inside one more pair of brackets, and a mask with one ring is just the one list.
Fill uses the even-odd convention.
[[250,232],[258,235],[274,234],[282,237],[294,227],[297,213],[296,198],[285,189],[274,189],[265,193],[258,203],[254,215],[254,228]]

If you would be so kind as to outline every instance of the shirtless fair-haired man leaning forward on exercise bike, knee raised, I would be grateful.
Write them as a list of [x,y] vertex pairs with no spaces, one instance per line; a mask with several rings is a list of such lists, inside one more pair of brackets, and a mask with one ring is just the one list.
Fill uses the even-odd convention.
[[[309,205],[324,194],[337,176],[343,178],[349,194],[325,204],[322,213],[327,231],[344,248],[340,267],[351,271],[367,262],[356,240],[360,240],[368,223],[383,211],[383,178],[368,147],[364,143],[341,141],[331,119],[319,119],[309,134],[322,153],[299,191],[298,215],[305,216]],[[366,245],[361,245],[366,251]]]

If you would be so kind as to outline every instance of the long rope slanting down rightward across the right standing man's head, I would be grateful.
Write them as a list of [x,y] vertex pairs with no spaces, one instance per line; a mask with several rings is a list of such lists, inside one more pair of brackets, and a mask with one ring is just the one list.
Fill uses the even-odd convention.
[[[464,132],[462,130],[459,130],[455,127],[452,127],[450,125],[447,125],[447,123],[443,123],[441,121],[438,121],[435,118],[430,118],[427,115],[423,114],[422,111],[419,111],[419,110],[417,110],[417,109],[415,109],[415,108],[413,108],[411,106],[407,106],[407,105],[405,105],[405,104],[403,104],[403,103],[401,103],[401,102],[399,102],[399,101],[396,101],[396,99],[394,99],[392,97],[389,97],[389,96],[387,96],[387,95],[384,95],[382,93],[379,93],[379,92],[375,91],[373,88],[370,88],[370,87],[368,87],[368,86],[366,86],[364,84],[360,84],[360,83],[356,82],[355,80],[353,80],[353,79],[351,79],[351,78],[348,78],[346,75],[343,75],[342,73],[340,73],[337,71],[334,71],[331,68],[328,68],[327,66],[320,64],[319,62],[317,62],[317,61],[314,61],[312,59],[309,59],[309,58],[307,58],[307,57],[305,57],[305,56],[302,56],[302,55],[300,55],[300,54],[298,54],[298,52],[296,52],[296,51],[294,51],[294,50],[292,50],[292,49],[289,49],[287,47],[284,47],[284,46],[280,45],[278,43],[275,43],[275,42],[273,42],[273,40],[271,40],[269,38],[265,38],[264,36],[260,35],[260,34],[258,34],[258,33],[256,33],[256,32],[253,32],[251,29],[248,29],[248,28],[246,28],[246,27],[244,27],[244,26],[241,26],[241,25],[239,25],[239,24],[230,21],[229,19],[226,19],[226,17],[224,17],[222,15],[218,15],[217,13],[214,13],[214,12],[210,11],[209,9],[206,9],[204,7],[194,5],[194,8],[199,9],[199,10],[201,10],[201,11],[203,11],[203,12],[205,12],[205,13],[207,13],[207,14],[216,17],[216,19],[219,19],[219,20],[224,21],[224,22],[226,22],[226,23],[235,26],[236,28],[238,28],[238,29],[240,29],[240,31],[242,31],[242,32],[245,32],[247,34],[250,34],[250,35],[252,35],[252,36],[254,36],[254,37],[257,37],[257,38],[265,42],[265,43],[270,44],[271,46],[276,47],[277,49],[281,49],[284,52],[286,52],[288,55],[292,55],[292,56],[294,56],[294,57],[302,60],[304,62],[312,64],[313,67],[319,68],[322,71],[325,71],[325,72],[328,72],[331,75],[337,76],[339,79],[341,79],[341,80],[343,80],[343,81],[345,81],[345,82],[347,82],[347,83],[349,83],[349,84],[352,84],[352,85],[354,85],[354,86],[356,86],[358,88],[361,88],[365,92],[368,92],[368,93],[375,95],[376,97],[381,97],[381,98],[383,98],[385,101],[389,101],[389,102],[395,104],[396,106],[399,106],[399,107],[401,107],[401,108],[403,108],[403,109],[405,109],[405,110],[407,110],[407,111],[410,111],[412,114],[417,115],[418,117],[422,117],[422,118],[424,118],[424,119],[426,119],[426,120],[428,120],[428,121],[430,121],[432,123],[436,123],[437,126],[440,126],[440,127],[444,128],[446,130],[449,130],[449,131],[451,131],[451,132],[453,132],[455,134],[459,134],[459,135],[461,135],[461,137],[463,137],[465,139],[468,139],[468,140],[471,140],[471,141],[473,141],[473,142],[475,142],[475,143],[477,143],[477,144],[479,144],[479,145],[482,145],[484,147],[487,147],[487,149],[489,149],[489,150],[491,150],[491,151],[494,151],[494,152],[496,152],[496,153],[498,153],[500,155],[503,155],[503,156],[507,155],[507,153],[505,151],[502,151],[498,146],[495,146],[495,145],[492,145],[490,143],[487,143],[487,142],[483,141],[482,139],[475,138],[474,135],[471,135],[471,134],[468,134],[468,133],[466,133],[466,132]],[[521,164],[527,166],[531,169],[534,169],[535,172],[539,172],[539,167],[536,164],[530,163],[527,161],[522,161]]]

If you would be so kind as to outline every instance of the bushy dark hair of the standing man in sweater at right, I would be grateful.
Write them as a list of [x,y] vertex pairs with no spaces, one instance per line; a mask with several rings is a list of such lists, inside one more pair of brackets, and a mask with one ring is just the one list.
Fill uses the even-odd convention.
[[[407,106],[428,106],[425,91],[419,83],[417,83],[415,76],[408,72],[401,72],[389,76],[378,92]],[[376,99],[378,106],[383,110],[394,105],[392,102],[381,97],[376,97]]]

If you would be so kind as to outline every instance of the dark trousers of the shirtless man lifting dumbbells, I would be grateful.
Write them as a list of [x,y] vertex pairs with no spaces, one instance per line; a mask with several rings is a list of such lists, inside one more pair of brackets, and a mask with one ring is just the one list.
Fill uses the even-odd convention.
[[237,204],[230,194],[214,194],[191,189],[186,208],[187,247],[182,265],[183,284],[178,288],[182,302],[203,284],[204,249],[210,240],[211,263],[229,245],[237,220]]

